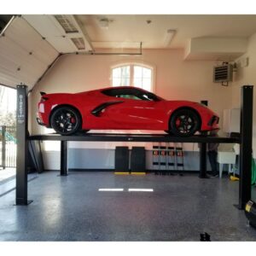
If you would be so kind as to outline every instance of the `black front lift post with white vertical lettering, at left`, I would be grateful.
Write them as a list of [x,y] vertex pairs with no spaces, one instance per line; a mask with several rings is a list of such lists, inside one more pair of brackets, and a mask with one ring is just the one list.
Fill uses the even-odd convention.
[[17,168],[16,168],[16,205],[26,206],[27,200],[27,86],[17,85]]

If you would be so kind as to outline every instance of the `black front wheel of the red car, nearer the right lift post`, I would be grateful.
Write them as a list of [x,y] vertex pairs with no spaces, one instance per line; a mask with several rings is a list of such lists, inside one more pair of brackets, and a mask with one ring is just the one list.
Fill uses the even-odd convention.
[[179,137],[189,137],[200,129],[200,118],[191,109],[179,109],[172,114],[170,120],[171,131]]

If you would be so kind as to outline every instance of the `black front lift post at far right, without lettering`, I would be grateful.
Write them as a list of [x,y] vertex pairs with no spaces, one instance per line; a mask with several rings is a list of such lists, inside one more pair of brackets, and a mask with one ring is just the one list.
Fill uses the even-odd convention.
[[239,209],[244,209],[251,199],[252,182],[252,136],[253,136],[253,85],[241,87],[240,119],[240,161],[239,161]]

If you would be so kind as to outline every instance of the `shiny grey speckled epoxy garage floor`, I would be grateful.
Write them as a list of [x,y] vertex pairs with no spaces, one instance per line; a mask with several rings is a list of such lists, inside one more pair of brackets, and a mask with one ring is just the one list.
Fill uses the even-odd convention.
[[228,178],[57,175],[31,180],[27,207],[14,206],[15,190],[0,197],[0,241],[199,241],[203,232],[212,241],[256,241],[244,212],[233,207],[238,183]]

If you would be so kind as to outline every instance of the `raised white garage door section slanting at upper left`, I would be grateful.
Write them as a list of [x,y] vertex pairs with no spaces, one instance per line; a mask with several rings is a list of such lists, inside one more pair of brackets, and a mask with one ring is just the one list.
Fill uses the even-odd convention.
[[58,54],[26,20],[16,18],[0,38],[0,84],[31,89]]

